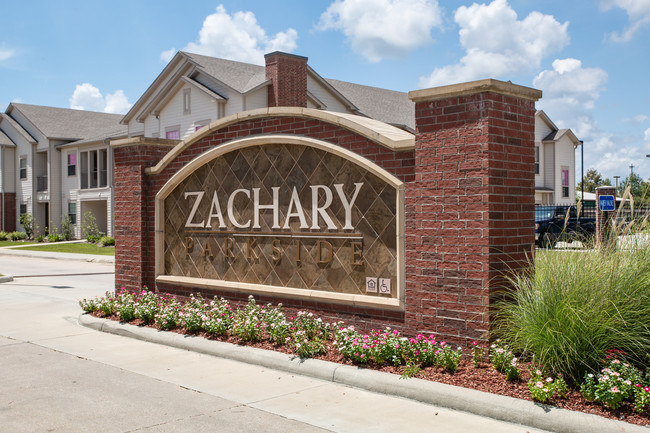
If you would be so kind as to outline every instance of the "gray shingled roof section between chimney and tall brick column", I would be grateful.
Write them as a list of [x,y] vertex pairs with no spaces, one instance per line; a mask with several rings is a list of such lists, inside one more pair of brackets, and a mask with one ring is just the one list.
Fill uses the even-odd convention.
[[394,125],[406,125],[415,130],[415,103],[407,93],[346,81],[326,81],[356,105],[361,114]]

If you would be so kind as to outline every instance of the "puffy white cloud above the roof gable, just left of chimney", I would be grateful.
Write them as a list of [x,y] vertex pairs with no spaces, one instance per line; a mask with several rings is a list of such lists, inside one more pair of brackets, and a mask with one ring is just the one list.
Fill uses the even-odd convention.
[[[196,54],[221,57],[241,62],[264,63],[264,54],[271,51],[292,52],[297,48],[298,33],[289,28],[270,37],[259,26],[252,12],[235,12],[230,15],[223,7],[203,21],[196,42],[190,42],[183,50]],[[163,51],[160,58],[169,61],[175,54],[172,48]]]

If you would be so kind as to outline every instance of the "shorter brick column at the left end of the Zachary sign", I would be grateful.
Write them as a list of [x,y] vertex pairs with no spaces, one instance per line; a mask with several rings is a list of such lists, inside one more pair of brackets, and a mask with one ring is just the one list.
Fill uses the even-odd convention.
[[[164,143],[163,143],[164,142]],[[115,287],[155,287],[154,199],[145,168],[169,150],[171,140],[132,138],[111,143],[114,163]]]

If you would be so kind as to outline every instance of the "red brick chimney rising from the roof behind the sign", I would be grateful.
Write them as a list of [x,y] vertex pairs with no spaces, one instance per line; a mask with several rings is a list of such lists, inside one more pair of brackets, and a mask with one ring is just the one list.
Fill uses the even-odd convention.
[[307,57],[274,51],[264,56],[269,107],[307,107]]

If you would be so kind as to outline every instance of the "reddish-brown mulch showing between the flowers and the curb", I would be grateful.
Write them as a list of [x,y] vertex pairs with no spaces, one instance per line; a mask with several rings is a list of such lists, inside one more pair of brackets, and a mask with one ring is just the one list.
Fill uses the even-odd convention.
[[[92,313],[93,316],[119,321],[118,316],[104,316],[101,311],[96,311]],[[152,328],[157,328],[154,325],[144,325],[142,320],[135,319],[129,322],[131,325],[135,326],[149,326]],[[177,332],[179,334],[189,334],[182,328],[177,328],[171,332]],[[276,352],[282,352],[293,355],[294,352],[287,346],[280,346],[274,343],[269,343],[268,341],[263,341],[259,343],[250,343],[242,342],[239,338],[228,336],[228,337],[215,337],[207,333],[195,333],[200,337],[204,337],[209,340],[223,341],[232,344],[245,345],[250,347],[256,347],[259,349],[273,350]],[[356,365],[350,360],[343,358],[343,356],[335,349],[332,341],[328,343],[327,353],[324,355],[315,356],[314,359],[321,359],[323,361],[335,362],[338,364],[344,365]],[[383,371],[385,373],[392,373],[401,375],[404,371],[404,367],[394,367],[386,365],[373,365],[368,364],[366,368]],[[522,377],[519,381],[507,381],[505,376],[502,373],[491,368],[489,364],[481,365],[480,367],[474,367],[470,359],[464,358],[461,361],[460,368],[456,373],[449,373],[442,368],[437,367],[426,367],[423,368],[417,376],[419,379],[430,380],[433,382],[446,383],[448,385],[461,386],[464,388],[475,389],[478,391],[489,392],[492,394],[500,394],[508,397],[520,398],[522,400],[533,401],[528,390],[528,379],[530,379],[529,372],[524,368],[522,369]],[[567,398],[555,398],[551,400],[549,405],[556,406],[562,409],[574,410],[579,412],[590,413],[605,418],[620,420],[628,422],[631,424],[637,424],[641,426],[650,426],[650,409],[646,410],[642,414],[634,412],[632,405],[625,403],[621,408],[617,410],[608,409],[606,406],[590,402],[582,397],[582,394],[577,389],[570,389],[567,393]]]

